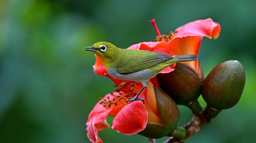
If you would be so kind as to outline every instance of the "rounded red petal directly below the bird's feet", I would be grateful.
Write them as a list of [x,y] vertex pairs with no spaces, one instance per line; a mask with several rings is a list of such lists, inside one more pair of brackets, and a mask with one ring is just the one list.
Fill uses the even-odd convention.
[[112,129],[125,135],[134,135],[145,129],[148,112],[141,101],[133,101],[123,107],[113,119]]

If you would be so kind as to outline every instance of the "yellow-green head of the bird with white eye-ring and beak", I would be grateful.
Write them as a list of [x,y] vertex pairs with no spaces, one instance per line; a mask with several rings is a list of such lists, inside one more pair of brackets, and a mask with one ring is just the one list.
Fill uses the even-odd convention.
[[110,59],[119,51],[120,48],[117,48],[110,42],[96,42],[93,46],[84,48],[85,51],[91,51],[99,56],[103,61],[105,59]]

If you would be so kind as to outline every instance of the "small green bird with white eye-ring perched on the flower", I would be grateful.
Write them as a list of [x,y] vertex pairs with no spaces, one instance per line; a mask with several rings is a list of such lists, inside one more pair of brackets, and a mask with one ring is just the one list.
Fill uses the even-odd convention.
[[147,50],[121,49],[110,42],[97,42],[93,46],[84,48],[102,59],[108,74],[115,79],[137,81],[143,88],[134,97],[127,100],[143,101],[140,93],[148,86],[148,80],[157,75],[161,70],[176,62],[196,61],[197,55],[170,56],[164,53]]

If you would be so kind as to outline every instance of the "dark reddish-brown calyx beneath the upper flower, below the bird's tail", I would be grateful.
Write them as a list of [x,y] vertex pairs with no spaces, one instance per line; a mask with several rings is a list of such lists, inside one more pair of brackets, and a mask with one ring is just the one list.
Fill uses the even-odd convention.
[[160,87],[168,93],[177,104],[187,105],[201,94],[204,73],[198,64],[200,75],[189,65],[177,63],[171,73],[158,74]]

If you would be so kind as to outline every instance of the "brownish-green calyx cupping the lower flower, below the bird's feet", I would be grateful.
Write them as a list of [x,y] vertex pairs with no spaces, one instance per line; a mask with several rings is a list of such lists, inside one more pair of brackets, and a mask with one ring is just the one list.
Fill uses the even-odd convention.
[[146,128],[139,134],[149,138],[172,135],[180,118],[177,104],[160,88],[154,86],[154,90],[161,123],[148,122]]

